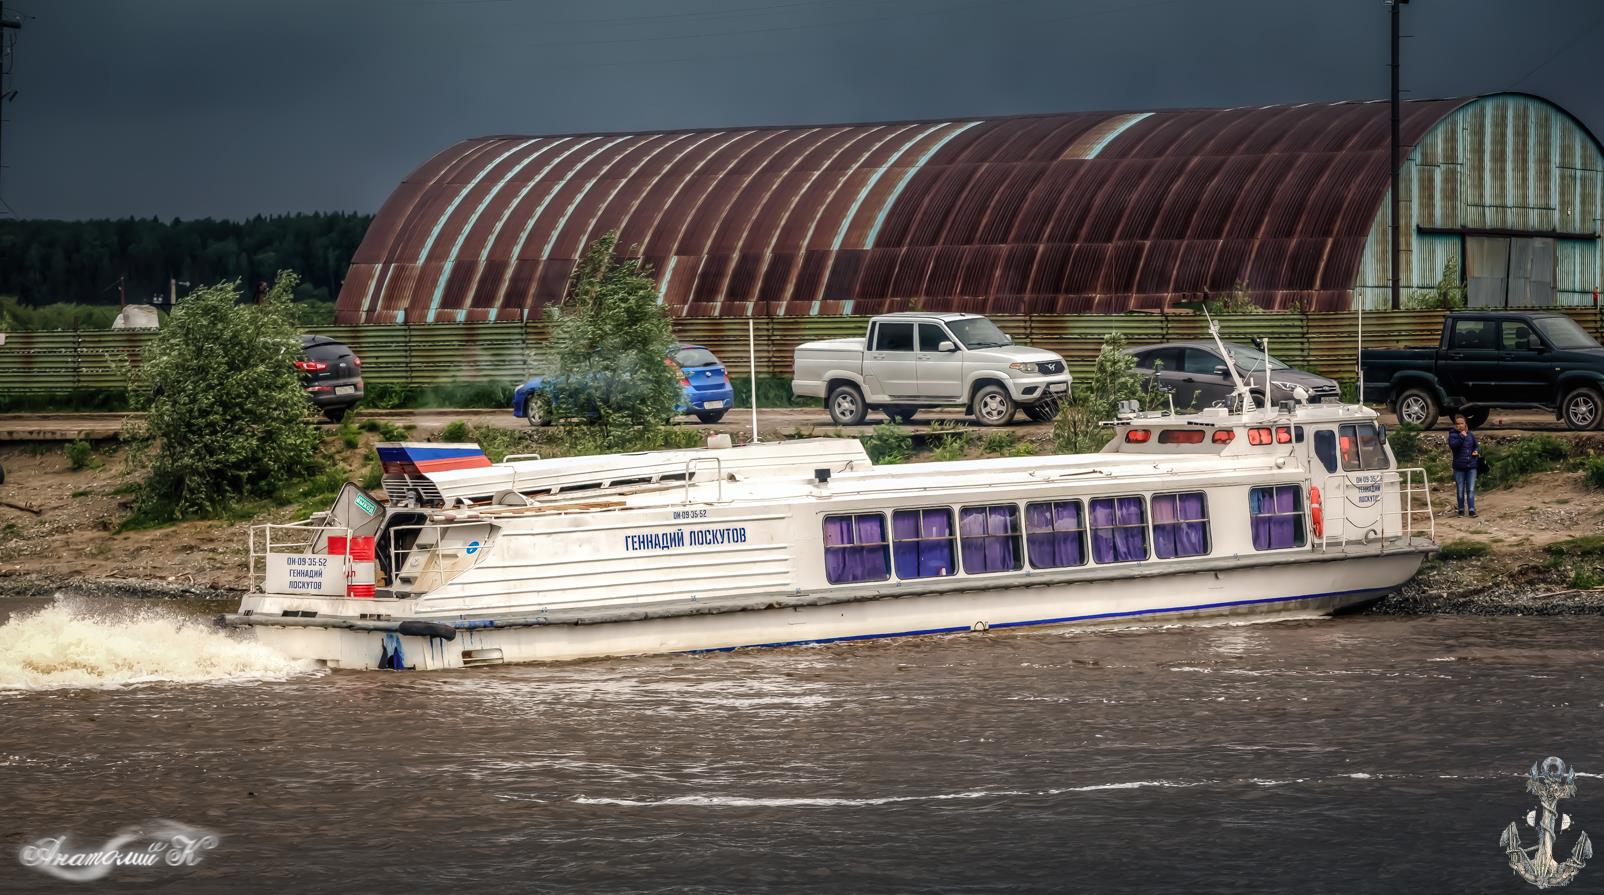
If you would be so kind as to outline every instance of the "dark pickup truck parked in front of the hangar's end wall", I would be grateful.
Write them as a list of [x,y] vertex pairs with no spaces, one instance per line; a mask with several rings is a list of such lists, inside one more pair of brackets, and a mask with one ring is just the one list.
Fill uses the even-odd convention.
[[1564,314],[1460,311],[1436,348],[1365,348],[1359,366],[1365,401],[1421,428],[1444,411],[1477,427],[1495,407],[1541,407],[1577,430],[1604,420],[1604,346]]

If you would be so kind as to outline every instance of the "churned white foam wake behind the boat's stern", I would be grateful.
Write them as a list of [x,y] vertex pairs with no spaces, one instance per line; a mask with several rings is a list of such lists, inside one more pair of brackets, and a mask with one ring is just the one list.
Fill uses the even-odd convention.
[[98,616],[58,601],[0,626],[0,690],[261,680],[308,670],[311,662],[156,608]]

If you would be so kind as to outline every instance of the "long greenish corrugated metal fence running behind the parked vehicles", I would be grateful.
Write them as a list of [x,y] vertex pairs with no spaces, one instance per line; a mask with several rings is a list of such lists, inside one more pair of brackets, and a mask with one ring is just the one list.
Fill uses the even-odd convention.
[[[1594,337],[1599,311],[1567,308]],[[1365,345],[1387,348],[1436,345],[1442,311],[1368,311]],[[1201,314],[1073,314],[998,316],[1004,332],[1022,345],[1057,351],[1081,375],[1091,369],[1104,335],[1123,332],[1129,345],[1205,338]],[[1270,340],[1270,351],[1288,364],[1333,379],[1354,377],[1359,318],[1338,314],[1232,314],[1217,318],[1221,335],[1246,342]],[[791,375],[791,354],[802,342],[863,335],[868,318],[755,318],[757,374]],[[330,326],[319,334],[350,345],[363,358],[372,383],[446,385],[512,382],[544,369],[547,324],[422,324]],[[675,335],[712,348],[731,374],[746,375],[747,321],[678,319]],[[0,345],[0,395],[51,395],[119,390],[128,369],[154,334],[149,330],[11,332]]]

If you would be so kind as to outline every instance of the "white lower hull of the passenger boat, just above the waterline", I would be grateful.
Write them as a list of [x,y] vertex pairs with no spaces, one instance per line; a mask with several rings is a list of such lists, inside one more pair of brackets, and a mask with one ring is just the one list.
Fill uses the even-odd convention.
[[[1208,619],[1309,618],[1373,603],[1410,579],[1423,550],[1384,552],[1328,561],[1187,571],[1104,581],[975,587],[824,605],[770,605],[739,611],[699,611],[597,622],[454,622],[456,637],[401,635],[276,624],[236,618],[260,642],[329,667],[415,670],[547,662],[603,656],[691,653],[752,646],[794,646],[1014,627],[1190,622]],[[258,611],[271,611],[258,598]],[[247,598],[244,608],[250,608]],[[508,619],[510,621],[510,619]]]

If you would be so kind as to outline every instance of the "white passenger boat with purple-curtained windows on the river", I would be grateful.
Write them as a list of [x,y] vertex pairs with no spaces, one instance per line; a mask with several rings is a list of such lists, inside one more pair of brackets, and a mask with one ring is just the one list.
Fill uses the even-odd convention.
[[383,444],[385,499],[252,533],[229,626],[342,669],[1362,606],[1436,549],[1363,406],[1121,412],[1104,452],[874,465],[855,439],[606,457]]

